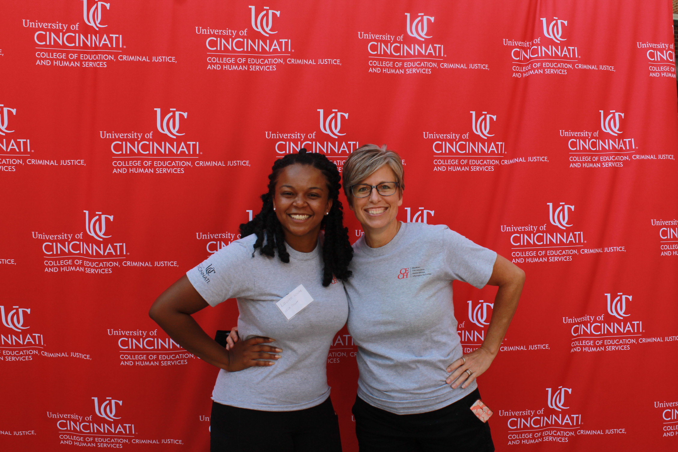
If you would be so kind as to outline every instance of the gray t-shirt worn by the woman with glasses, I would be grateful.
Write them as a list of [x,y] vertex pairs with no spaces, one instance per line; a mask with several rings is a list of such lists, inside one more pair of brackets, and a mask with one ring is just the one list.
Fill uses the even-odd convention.
[[358,395],[396,414],[426,413],[468,395],[446,369],[462,356],[452,281],[483,287],[497,254],[442,224],[403,223],[393,240],[354,245],[348,331],[358,346]]

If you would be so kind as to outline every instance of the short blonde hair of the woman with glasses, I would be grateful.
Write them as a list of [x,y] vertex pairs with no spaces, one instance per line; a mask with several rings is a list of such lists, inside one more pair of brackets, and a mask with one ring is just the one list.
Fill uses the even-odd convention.
[[346,159],[342,182],[344,182],[344,193],[346,193],[346,198],[351,205],[353,205],[351,186],[359,184],[361,180],[365,180],[384,165],[388,165],[393,170],[395,182],[398,182],[398,188],[402,191],[405,188],[403,160],[396,152],[389,150],[386,144],[381,147],[376,144],[364,144]]

